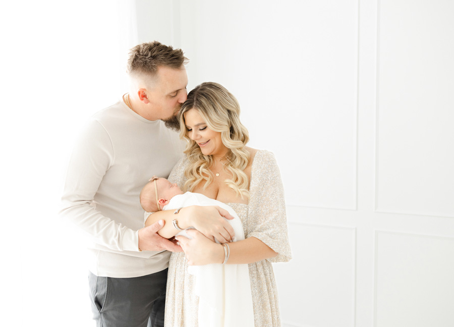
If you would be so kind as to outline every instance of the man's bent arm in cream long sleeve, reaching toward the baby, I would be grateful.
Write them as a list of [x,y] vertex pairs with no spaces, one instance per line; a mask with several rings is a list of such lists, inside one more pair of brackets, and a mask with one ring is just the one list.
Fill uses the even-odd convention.
[[[139,251],[139,231],[117,223],[115,217],[104,216],[92,206],[93,198],[112,162],[113,148],[110,138],[104,128],[93,120],[74,148],[68,166],[60,215],[83,230],[99,245],[117,251]],[[151,230],[141,230],[141,241],[147,244],[142,250],[159,251],[162,240],[152,237]],[[168,245],[167,242],[164,243]]]

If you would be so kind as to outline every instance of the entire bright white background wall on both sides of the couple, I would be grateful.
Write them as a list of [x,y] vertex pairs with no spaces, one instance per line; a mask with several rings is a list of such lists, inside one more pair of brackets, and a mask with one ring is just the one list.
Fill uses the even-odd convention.
[[230,89],[250,145],[276,154],[294,253],[275,265],[285,326],[454,324],[451,2],[129,4],[2,4],[0,321],[92,324],[83,252],[55,216],[66,160],[124,92],[127,49],[157,39],[185,51],[189,89]]

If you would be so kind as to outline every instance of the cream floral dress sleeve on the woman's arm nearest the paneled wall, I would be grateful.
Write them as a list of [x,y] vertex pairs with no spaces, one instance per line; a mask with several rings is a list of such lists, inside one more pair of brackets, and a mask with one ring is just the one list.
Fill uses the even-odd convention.
[[258,151],[252,162],[247,237],[255,237],[278,253],[270,262],[292,258],[286,204],[274,154]]

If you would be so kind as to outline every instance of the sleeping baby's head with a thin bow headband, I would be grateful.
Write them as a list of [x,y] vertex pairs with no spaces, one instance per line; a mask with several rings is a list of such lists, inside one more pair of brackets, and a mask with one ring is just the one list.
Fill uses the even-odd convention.
[[147,212],[155,212],[162,209],[175,195],[183,194],[183,191],[165,178],[150,178],[149,182],[140,191],[140,204]]

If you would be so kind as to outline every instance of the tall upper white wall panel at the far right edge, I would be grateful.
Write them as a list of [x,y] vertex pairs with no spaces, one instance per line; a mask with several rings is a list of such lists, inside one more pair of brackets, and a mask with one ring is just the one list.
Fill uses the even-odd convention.
[[454,2],[378,10],[376,208],[454,217]]

